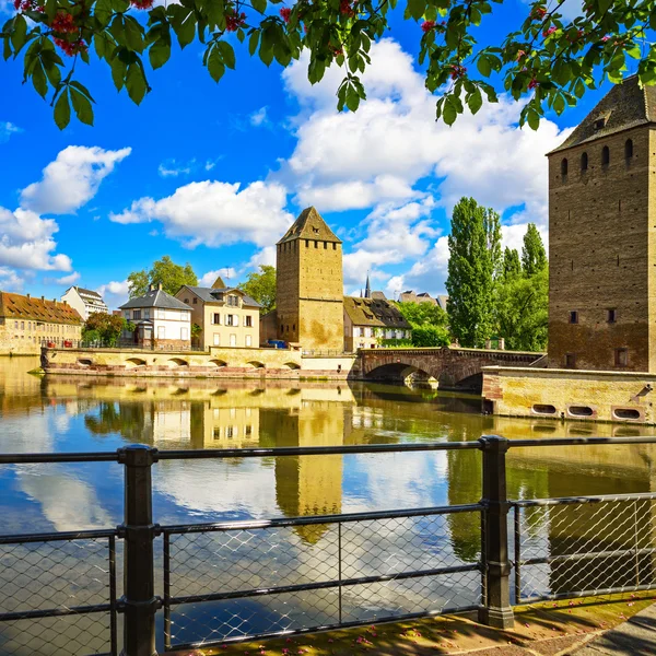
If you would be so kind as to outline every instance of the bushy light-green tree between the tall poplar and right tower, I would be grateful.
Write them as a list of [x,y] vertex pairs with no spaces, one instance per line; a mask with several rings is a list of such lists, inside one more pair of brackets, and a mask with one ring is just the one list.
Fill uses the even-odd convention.
[[508,279],[495,303],[499,336],[513,351],[544,351],[549,325],[549,270]]

